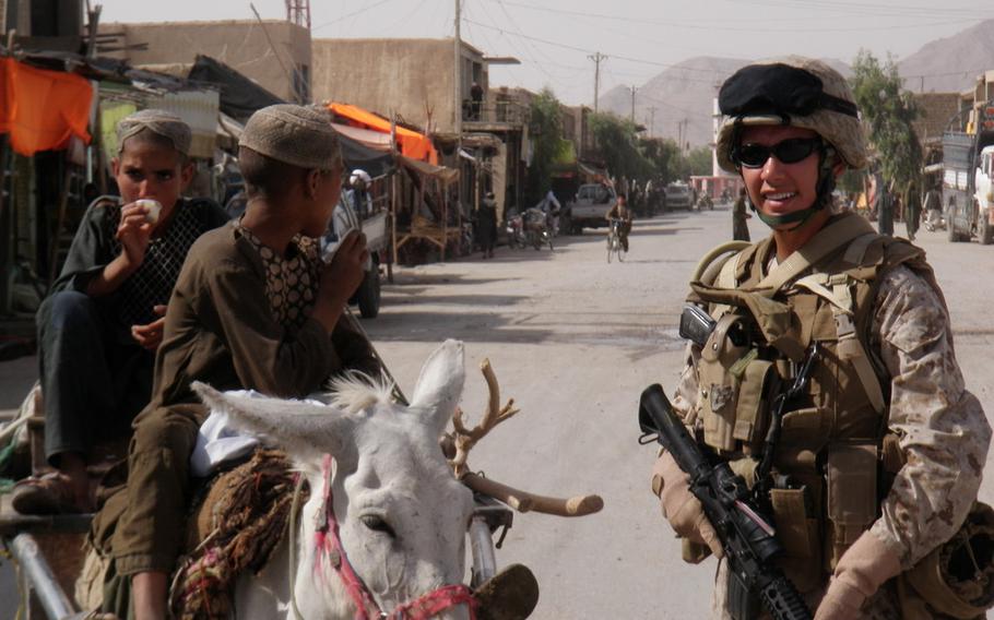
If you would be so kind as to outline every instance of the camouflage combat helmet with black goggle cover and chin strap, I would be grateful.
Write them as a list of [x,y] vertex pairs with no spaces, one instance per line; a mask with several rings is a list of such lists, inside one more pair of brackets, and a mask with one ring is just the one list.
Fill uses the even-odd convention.
[[718,106],[722,114],[718,165],[730,172],[741,172],[739,138],[746,127],[798,127],[824,141],[815,204],[783,216],[759,213],[768,225],[803,223],[829,204],[835,155],[852,169],[866,165],[866,141],[852,90],[838,71],[820,60],[789,56],[748,64],[722,84]]

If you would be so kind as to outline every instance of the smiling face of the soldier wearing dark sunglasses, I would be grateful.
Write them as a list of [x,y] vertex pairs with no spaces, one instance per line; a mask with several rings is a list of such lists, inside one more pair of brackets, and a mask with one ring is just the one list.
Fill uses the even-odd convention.
[[[809,129],[790,126],[746,127],[742,144],[773,146],[791,138],[815,138]],[[818,184],[818,151],[794,164],[770,156],[759,168],[742,167],[742,178],[756,208],[767,215],[786,215],[815,204]],[[785,224],[790,228],[794,224]]]

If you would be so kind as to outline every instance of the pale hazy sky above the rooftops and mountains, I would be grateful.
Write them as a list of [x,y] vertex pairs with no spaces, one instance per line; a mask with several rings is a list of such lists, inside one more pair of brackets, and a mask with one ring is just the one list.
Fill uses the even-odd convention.
[[[97,0],[98,1],[98,0]],[[863,47],[900,58],[923,44],[994,17],[990,2],[948,0],[462,0],[462,36],[488,56],[492,85],[548,85],[569,104],[593,98],[600,51],[601,93],[641,85],[695,56],[761,58],[784,53],[851,61]],[[242,0],[104,0],[105,22],[252,19]],[[255,0],[263,17],[285,19],[284,0]],[[450,37],[455,0],[315,0],[315,38]],[[710,79],[703,74],[701,79]]]

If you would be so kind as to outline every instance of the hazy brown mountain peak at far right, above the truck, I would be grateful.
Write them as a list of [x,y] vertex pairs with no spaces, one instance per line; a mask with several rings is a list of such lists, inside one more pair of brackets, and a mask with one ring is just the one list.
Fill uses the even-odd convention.
[[904,87],[914,93],[958,93],[973,86],[977,76],[994,69],[994,20],[926,43],[898,62]]

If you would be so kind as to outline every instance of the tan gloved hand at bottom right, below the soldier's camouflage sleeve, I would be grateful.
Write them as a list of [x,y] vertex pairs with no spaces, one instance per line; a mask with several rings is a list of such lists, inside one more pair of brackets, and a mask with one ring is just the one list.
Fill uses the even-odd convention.
[[815,620],[849,620],[880,586],[901,572],[901,561],[869,530],[864,532],[836,565]]

